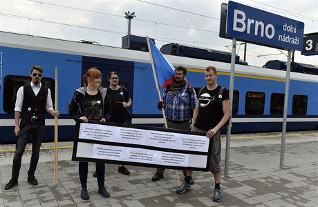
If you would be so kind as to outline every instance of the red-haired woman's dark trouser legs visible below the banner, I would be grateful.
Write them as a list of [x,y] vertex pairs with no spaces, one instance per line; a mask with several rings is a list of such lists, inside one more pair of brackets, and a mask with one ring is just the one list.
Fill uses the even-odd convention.
[[[79,161],[78,171],[79,171],[79,179],[81,181],[82,189],[86,189],[87,188],[88,162]],[[98,187],[102,188],[102,187],[104,187],[104,182],[105,182],[105,164],[96,163],[96,173],[97,173]]]

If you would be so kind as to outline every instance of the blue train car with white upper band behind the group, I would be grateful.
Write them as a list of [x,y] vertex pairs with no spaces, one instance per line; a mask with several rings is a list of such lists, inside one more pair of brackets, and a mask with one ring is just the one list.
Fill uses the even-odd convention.
[[[230,63],[165,55],[174,66],[188,69],[187,79],[196,91],[205,86],[204,68],[216,66],[218,84],[229,88]],[[26,34],[0,32],[0,142],[14,142],[14,107],[20,86],[30,81],[32,66],[44,68],[42,82],[55,97],[55,67],[59,71],[59,140],[73,138],[75,121],[68,115],[73,92],[82,86],[82,75],[91,67],[107,75],[117,71],[120,84],[133,100],[132,124],[162,126],[156,108],[158,92],[148,52],[97,46]],[[232,132],[281,131],[286,72],[236,65]],[[287,130],[316,130],[318,126],[318,76],[291,72]],[[163,92],[163,89],[162,89]],[[54,103],[54,101],[53,101]],[[46,117],[44,141],[53,141],[54,119]]]

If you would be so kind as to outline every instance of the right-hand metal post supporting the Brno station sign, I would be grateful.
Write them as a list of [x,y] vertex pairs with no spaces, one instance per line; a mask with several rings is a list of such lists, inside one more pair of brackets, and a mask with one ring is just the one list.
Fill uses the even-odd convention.
[[284,157],[284,152],[285,152],[288,95],[289,95],[289,82],[290,82],[290,62],[292,59],[291,57],[292,57],[292,50],[288,50],[287,68],[286,68],[286,83],[285,83],[285,97],[284,97],[284,102],[283,102],[283,129],[281,132],[281,160],[279,161],[279,168],[281,168],[281,169],[283,169],[283,157]]

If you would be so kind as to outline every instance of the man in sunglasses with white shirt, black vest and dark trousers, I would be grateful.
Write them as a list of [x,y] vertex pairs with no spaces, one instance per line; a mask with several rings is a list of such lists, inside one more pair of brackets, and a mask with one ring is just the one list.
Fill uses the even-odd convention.
[[17,92],[17,101],[15,102],[15,135],[18,137],[15,147],[15,157],[13,157],[12,178],[6,184],[4,190],[9,190],[18,184],[21,159],[30,135],[32,135],[33,139],[28,183],[32,186],[37,185],[35,169],[39,161],[39,150],[44,136],[44,113],[47,111],[53,117],[59,117],[59,112],[53,109],[50,89],[41,84],[42,76],[43,69],[41,66],[33,66],[30,70],[32,81],[26,86],[21,86]]

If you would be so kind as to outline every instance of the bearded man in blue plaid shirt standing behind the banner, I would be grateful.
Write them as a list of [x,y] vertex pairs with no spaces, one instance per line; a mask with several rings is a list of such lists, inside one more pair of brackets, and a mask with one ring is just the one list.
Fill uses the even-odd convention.
[[[162,101],[158,103],[158,109],[165,108],[168,128],[178,130],[189,130],[191,112],[196,107],[196,91],[189,86],[185,79],[187,69],[183,66],[178,66],[174,70],[174,83],[172,86],[167,86],[162,95]],[[158,181],[163,178],[165,168],[157,168],[156,174],[151,178],[152,181]],[[187,175],[187,170],[183,170],[183,174]],[[194,180],[191,179],[191,184]]]

